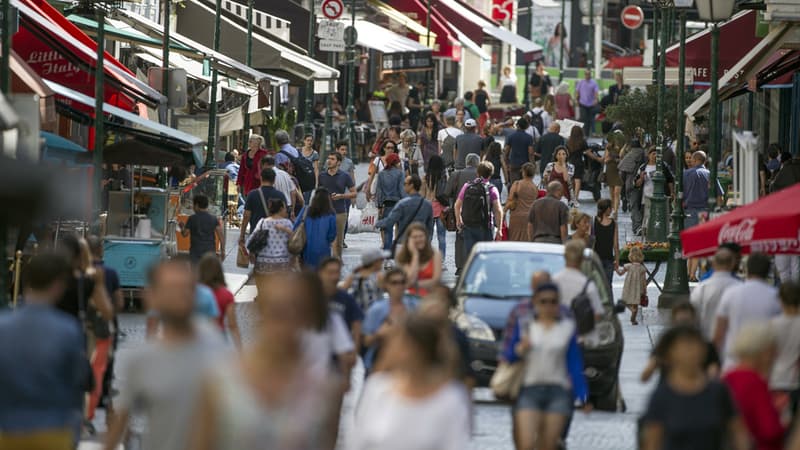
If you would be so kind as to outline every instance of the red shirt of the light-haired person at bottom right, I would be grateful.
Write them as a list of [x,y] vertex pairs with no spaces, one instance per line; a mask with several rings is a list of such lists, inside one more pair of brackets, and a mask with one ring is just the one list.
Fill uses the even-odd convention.
[[781,450],[786,429],[772,403],[767,381],[756,371],[736,367],[722,377],[728,385],[757,450]]

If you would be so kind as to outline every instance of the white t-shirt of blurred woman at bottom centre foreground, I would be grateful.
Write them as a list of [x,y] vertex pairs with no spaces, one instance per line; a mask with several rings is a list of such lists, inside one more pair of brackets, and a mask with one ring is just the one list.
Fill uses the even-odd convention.
[[394,389],[394,378],[367,378],[356,409],[351,450],[464,450],[470,441],[470,402],[463,385],[447,383],[427,398]]

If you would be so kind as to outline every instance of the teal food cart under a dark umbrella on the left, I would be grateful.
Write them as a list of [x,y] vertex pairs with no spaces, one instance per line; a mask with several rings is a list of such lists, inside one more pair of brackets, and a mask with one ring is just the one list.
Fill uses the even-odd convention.
[[[105,148],[106,164],[136,166],[202,165],[196,146],[162,141],[158,143],[128,139]],[[141,180],[141,178],[140,178]],[[177,191],[143,186],[109,192],[108,214],[104,226],[105,263],[119,274],[127,292],[143,288],[150,267],[177,252],[176,223],[178,202],[170,201]]]

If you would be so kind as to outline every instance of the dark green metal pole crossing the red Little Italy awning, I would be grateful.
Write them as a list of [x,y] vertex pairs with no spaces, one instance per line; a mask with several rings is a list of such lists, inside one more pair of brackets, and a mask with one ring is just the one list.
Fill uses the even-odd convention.
[[103,130],[103,58],[105,57],[105,12],[101,5],[95,6],[97,19],[97,65],[94,69],[94,211],[99,213],[103,207],[103,144],[105,132]]

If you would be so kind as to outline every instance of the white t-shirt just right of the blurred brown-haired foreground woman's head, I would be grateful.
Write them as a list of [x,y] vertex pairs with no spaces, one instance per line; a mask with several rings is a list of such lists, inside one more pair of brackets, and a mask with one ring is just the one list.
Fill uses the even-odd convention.
[[342,315],[337,312],[329,314],[328,325],[324,330],[307,330],[303,333],[305,360],[315,374],[327,374],[334,355],[354,350],[353,338],[347,331]]

